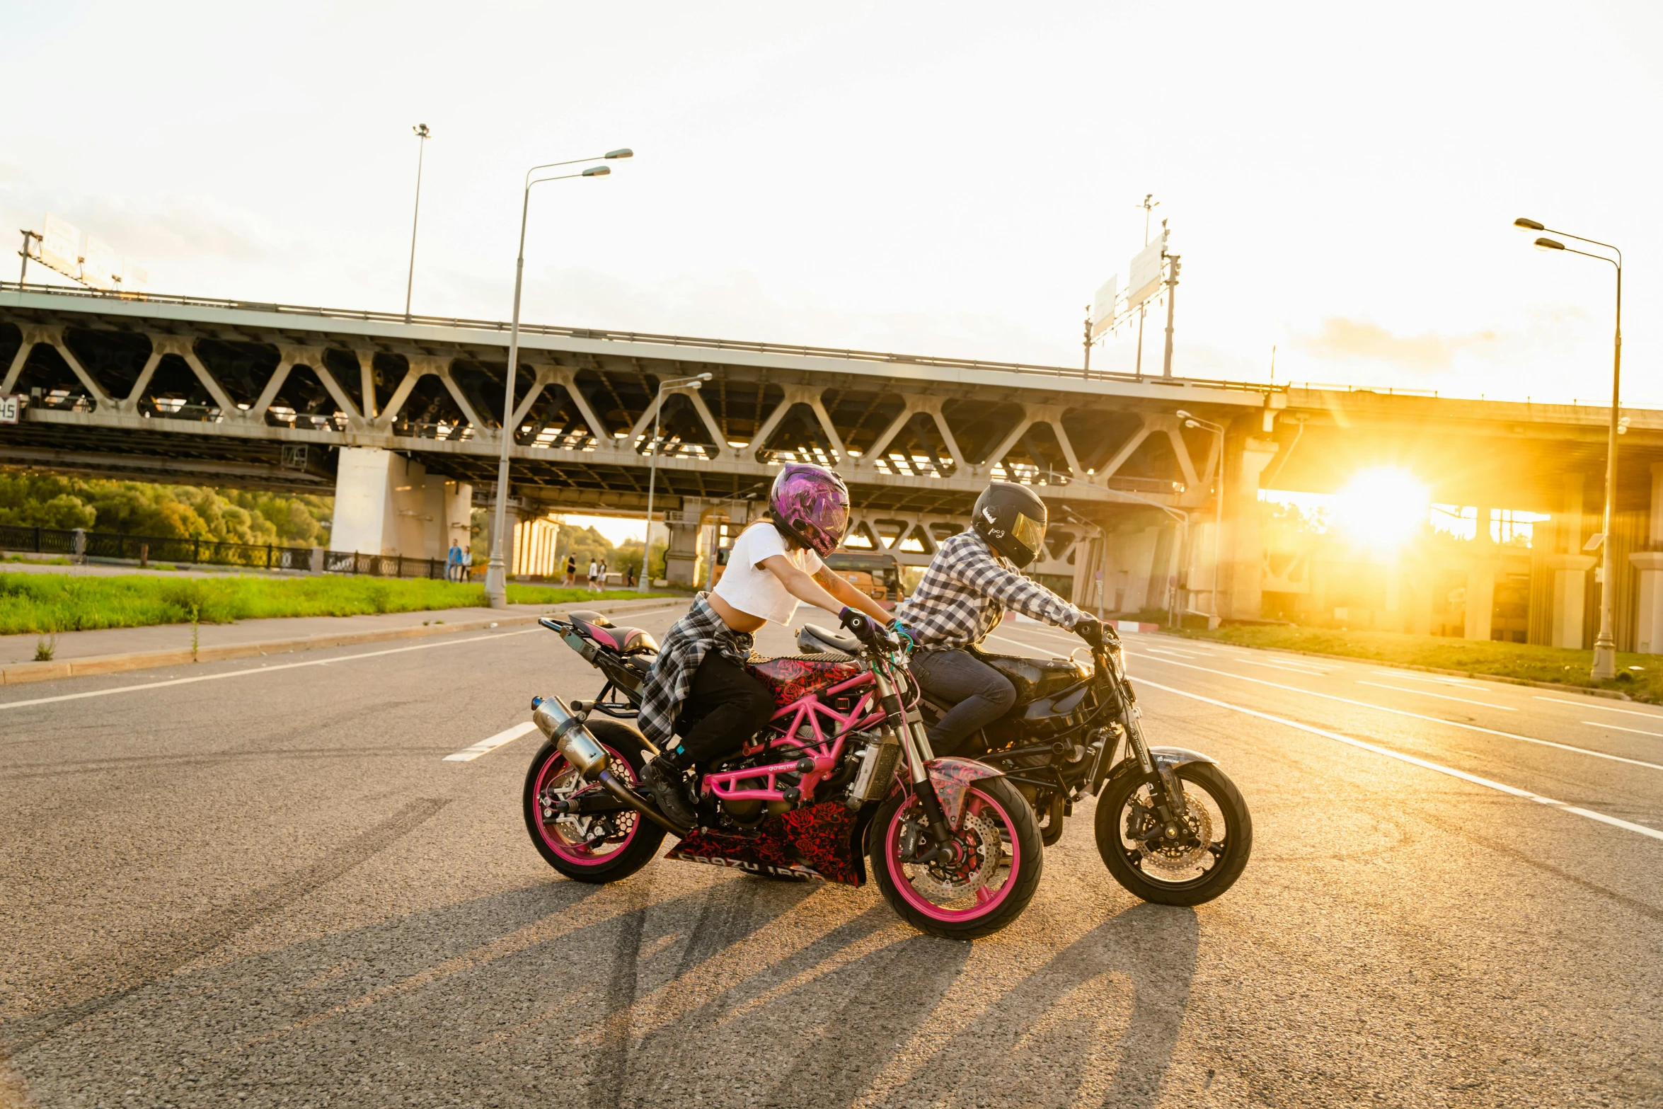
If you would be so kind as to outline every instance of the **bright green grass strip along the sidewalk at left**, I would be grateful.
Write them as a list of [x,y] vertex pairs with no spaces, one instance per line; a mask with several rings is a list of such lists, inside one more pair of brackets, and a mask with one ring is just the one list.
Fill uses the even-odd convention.
[[[662,594],[509,585],[509,604],[560,605],[635,600]],[[0,635],[53,635],[88,628],[203,624],[263,617],[351,617],[368,612],[426,612],[486,604],[484,585],[373,577],[185,579],[140,574],[70,577],[67,574],[0,574]]]

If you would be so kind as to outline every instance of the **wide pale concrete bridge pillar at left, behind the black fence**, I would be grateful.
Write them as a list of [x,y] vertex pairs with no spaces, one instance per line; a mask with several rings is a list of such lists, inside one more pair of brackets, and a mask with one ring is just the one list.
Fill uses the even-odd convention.
[[429,477],[381,447],[341,447],[334,472],[333,550],[442,559],[452,535],[467,549],[472,487]]

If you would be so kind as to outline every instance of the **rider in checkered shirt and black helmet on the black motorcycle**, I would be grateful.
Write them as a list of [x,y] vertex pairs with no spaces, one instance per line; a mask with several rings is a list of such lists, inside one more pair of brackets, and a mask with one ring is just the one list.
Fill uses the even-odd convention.
[[1013,609],[1064,627],[1091,645],[1103,643],[1103,624],[1018,570],[1038,557],[1046,507],[1026,485],[993,482],[976,499],[970,529],[941,544],[895,620],[918,645],[911,672],[935,700],[953,703],[930,728],[936,755],[951,755],[980,728],[1016,703],[1016,687],[971,655]]

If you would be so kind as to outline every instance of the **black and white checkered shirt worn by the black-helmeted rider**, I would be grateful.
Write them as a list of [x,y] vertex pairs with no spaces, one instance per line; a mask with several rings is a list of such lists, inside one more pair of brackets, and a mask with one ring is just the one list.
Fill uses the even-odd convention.
[[921,650],[980,643],[1004,610],[1074,630],[1091,619],[1039,582],[1016,572],[975,529],[941,544],[918,590],[895,609],[895,619]]

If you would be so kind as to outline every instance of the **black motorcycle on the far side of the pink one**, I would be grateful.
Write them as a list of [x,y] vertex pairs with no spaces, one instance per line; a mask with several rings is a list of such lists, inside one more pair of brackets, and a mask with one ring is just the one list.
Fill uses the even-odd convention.
[[[1211,901],[1236,883],[1252,853],[1247,803],[1207,755],[1149,747],[1126,678],[1126,648],[1113,628],[1104,632],[1089,663],[968,648],[1011,680],[1016,703],[951,753],[1003,770],[1043,818],[1048,846],[1063,836],[1074,803],[1094,795],[1098,853],[1118,883],[1159,904]],[[797,647],[858,650],[853,637],[812,624]],[[948,708],[928,693],[921,700],[926,725]]]

